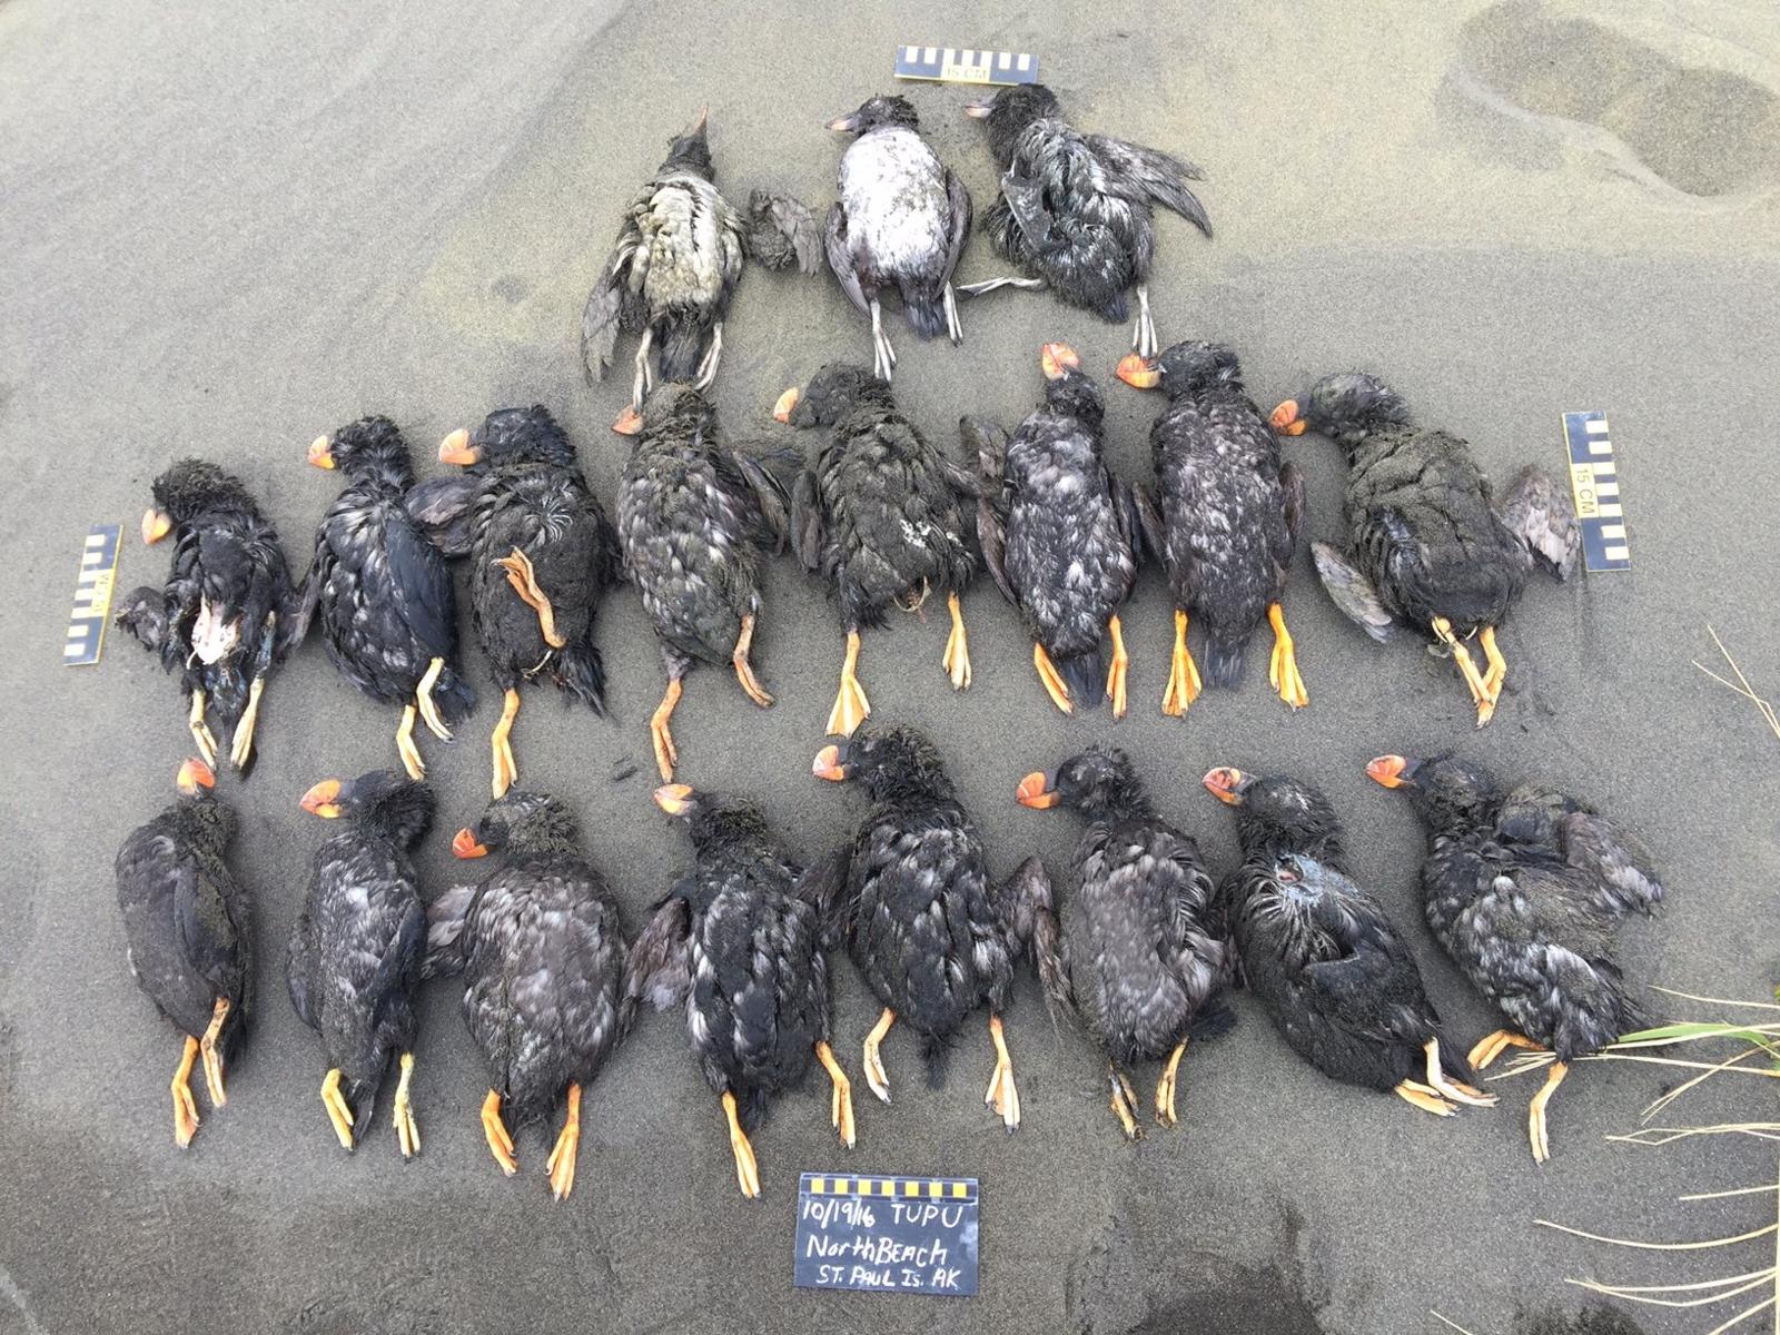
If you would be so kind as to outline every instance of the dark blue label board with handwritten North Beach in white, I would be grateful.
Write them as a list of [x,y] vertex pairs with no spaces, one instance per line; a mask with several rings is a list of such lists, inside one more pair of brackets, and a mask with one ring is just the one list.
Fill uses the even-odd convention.
[[794,1283],[970,1298],[977,1290],[977,1180],[805,1173]]

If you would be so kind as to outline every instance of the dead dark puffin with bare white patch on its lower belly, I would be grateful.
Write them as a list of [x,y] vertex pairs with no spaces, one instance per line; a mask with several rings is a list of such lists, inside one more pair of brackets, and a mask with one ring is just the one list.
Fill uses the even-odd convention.
[[265,678],[299,637],[285,552],[247,488],[214,463],[182,459],[153,493],[142,541],[171,532],[173,568],[162,589],[125,598],[117,625],[180,675],[205,764],[217,762],[206,723],[215,719],[230,737],[230,764],[246,771]]

